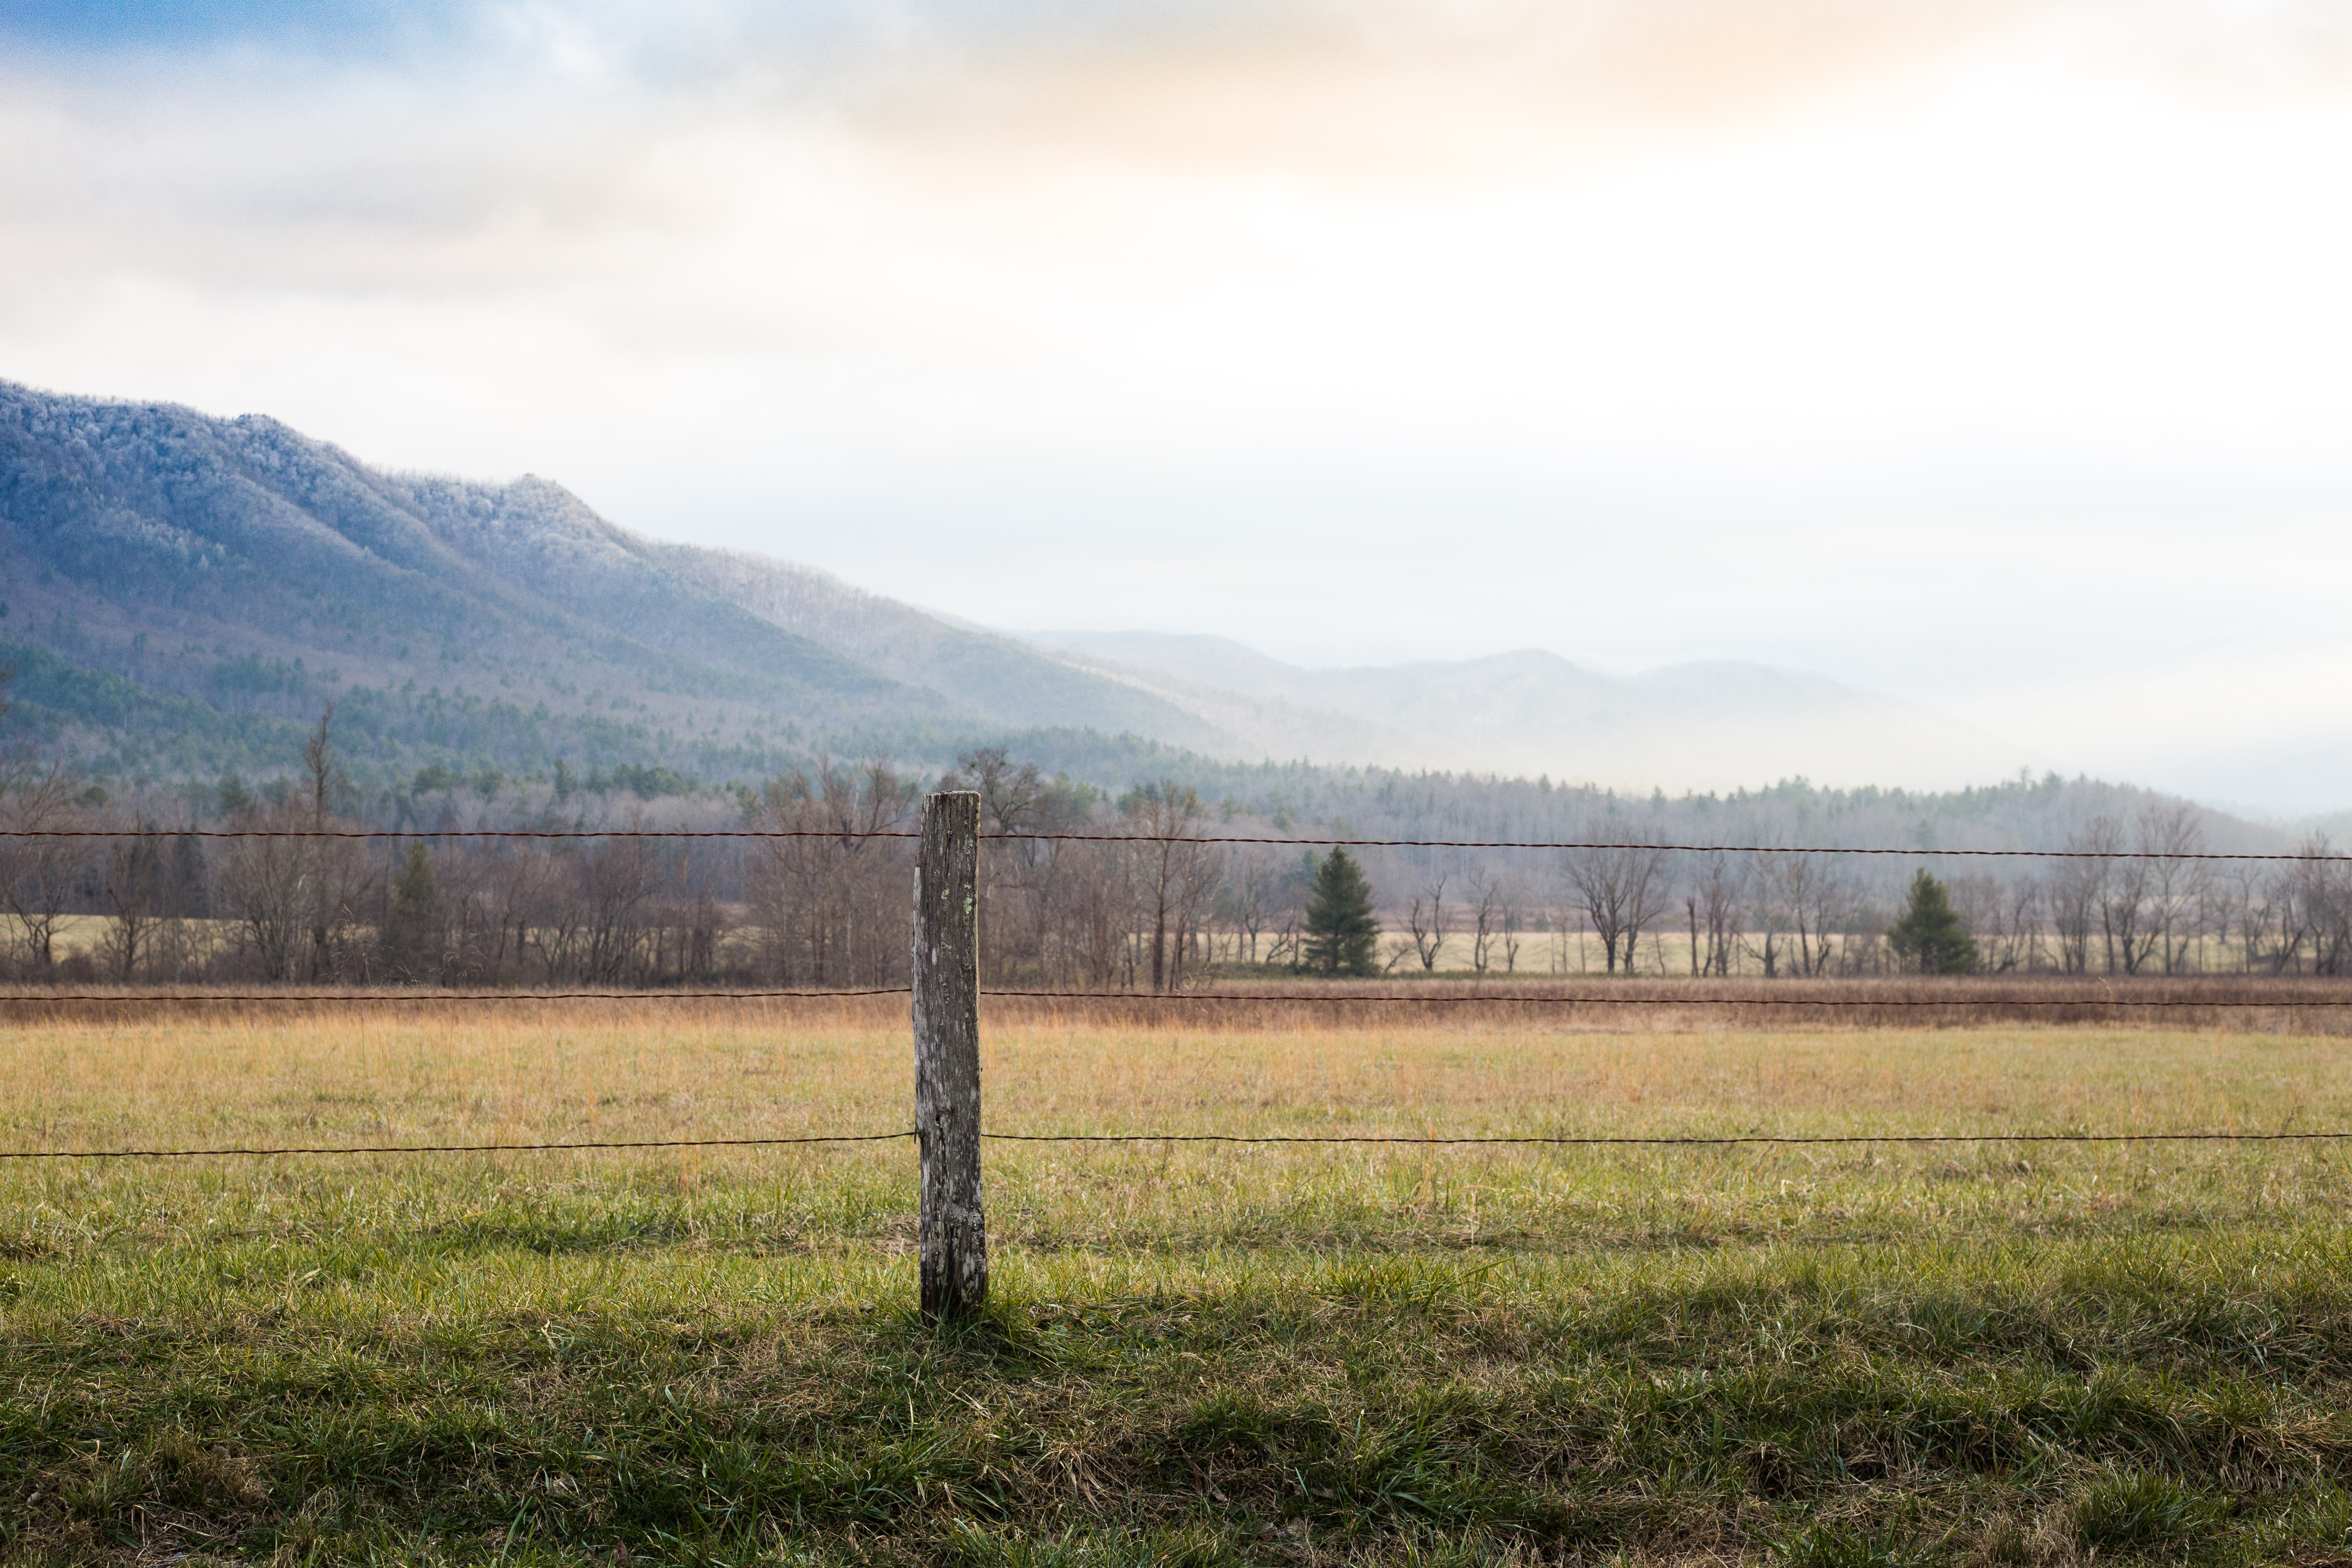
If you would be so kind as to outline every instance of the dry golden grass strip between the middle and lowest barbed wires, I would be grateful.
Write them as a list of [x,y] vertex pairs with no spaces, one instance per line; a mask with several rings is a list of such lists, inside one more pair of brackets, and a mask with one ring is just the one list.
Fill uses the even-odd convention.
[[[31,1013],[0,1034],[14,1147],[750,1138],[889,1131],[910,1114],[903,997],[14,1011]],[[990,1004],[988,1121],[1477,1135],[2352,1126],[2352,1058],[2312,1027],[1884,1027],[1799,1011],[1757,1030],[1644,1009],[1642,1027],[1599,1030],[1538,1009],[1378,1001],[1343,1018],[1303,1004]]]

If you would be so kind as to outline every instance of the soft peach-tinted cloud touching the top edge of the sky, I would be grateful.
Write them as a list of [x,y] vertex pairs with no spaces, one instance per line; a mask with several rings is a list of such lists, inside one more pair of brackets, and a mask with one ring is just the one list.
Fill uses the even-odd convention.
[[1416,172],[1461,150],[1496,158],[1578,132],[1719,129],[1952,59],[2046,9],[2032,0],[1270,7],[1176,40],[1096,38],[990,59],[988,94],[976,96],[993,94],[1009,110],[1004,125],[1040,143]]

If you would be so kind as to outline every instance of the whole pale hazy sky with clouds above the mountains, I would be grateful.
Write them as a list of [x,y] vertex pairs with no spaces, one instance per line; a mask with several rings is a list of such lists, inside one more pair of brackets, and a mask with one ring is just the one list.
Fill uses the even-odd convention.
[[2352,0],[0,2],[0,376],[2352,804]]

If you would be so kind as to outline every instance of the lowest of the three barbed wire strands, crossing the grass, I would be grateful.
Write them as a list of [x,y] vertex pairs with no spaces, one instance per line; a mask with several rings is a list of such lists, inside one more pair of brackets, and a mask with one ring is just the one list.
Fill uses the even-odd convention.
[[[0,1150],[0,1159],[212,1159],[301,1154],[555,1154],[593,1150],[753,1150],[816,1143],[898,1143],[896,1133],[804,1133],[779,1138],[609,1138],[579,1143],[365,1143],[365,1145],[221,1145],[202,1150]],[[983,1143],[1221,1143],[1221,1145],[1392,1145],[1392,1147],[1820,1147],[1950,1143],[2343,1143],[2352,1131],[2312,1133],[981,1133]]]

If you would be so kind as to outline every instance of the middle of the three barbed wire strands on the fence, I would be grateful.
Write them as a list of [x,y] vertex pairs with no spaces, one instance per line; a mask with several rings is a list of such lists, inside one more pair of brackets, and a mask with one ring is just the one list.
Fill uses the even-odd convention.
[[[1672,980],[1670,980],[1672,983]],[[0,992],[5,1004],[362,1004],[388,1001],[402,1006],[440,1004],[524,1004],[524,1001],[830,1001],[842,997],[910,997],[908,985],[861,985],[840,990],[372,990],[372,992]],[[1816,1006],[1816,1009],[1952,1009],[1952,1006],[2098,1006],[2098,1009],[2345,1009],[2347,997],[2018,997],[1969,992],[1957,997],[1712,997],[1712,994],[1595,994],[1595,992],[1456,992],[1423,994],[1409,992],[1091,992],[1091,990],[1023,990],[983,985],[981,997],[1014,1001],[1120,1001],[1120,1004],[1244,1004],[1244,1001],[1312,1001],[1324,1006]]]

